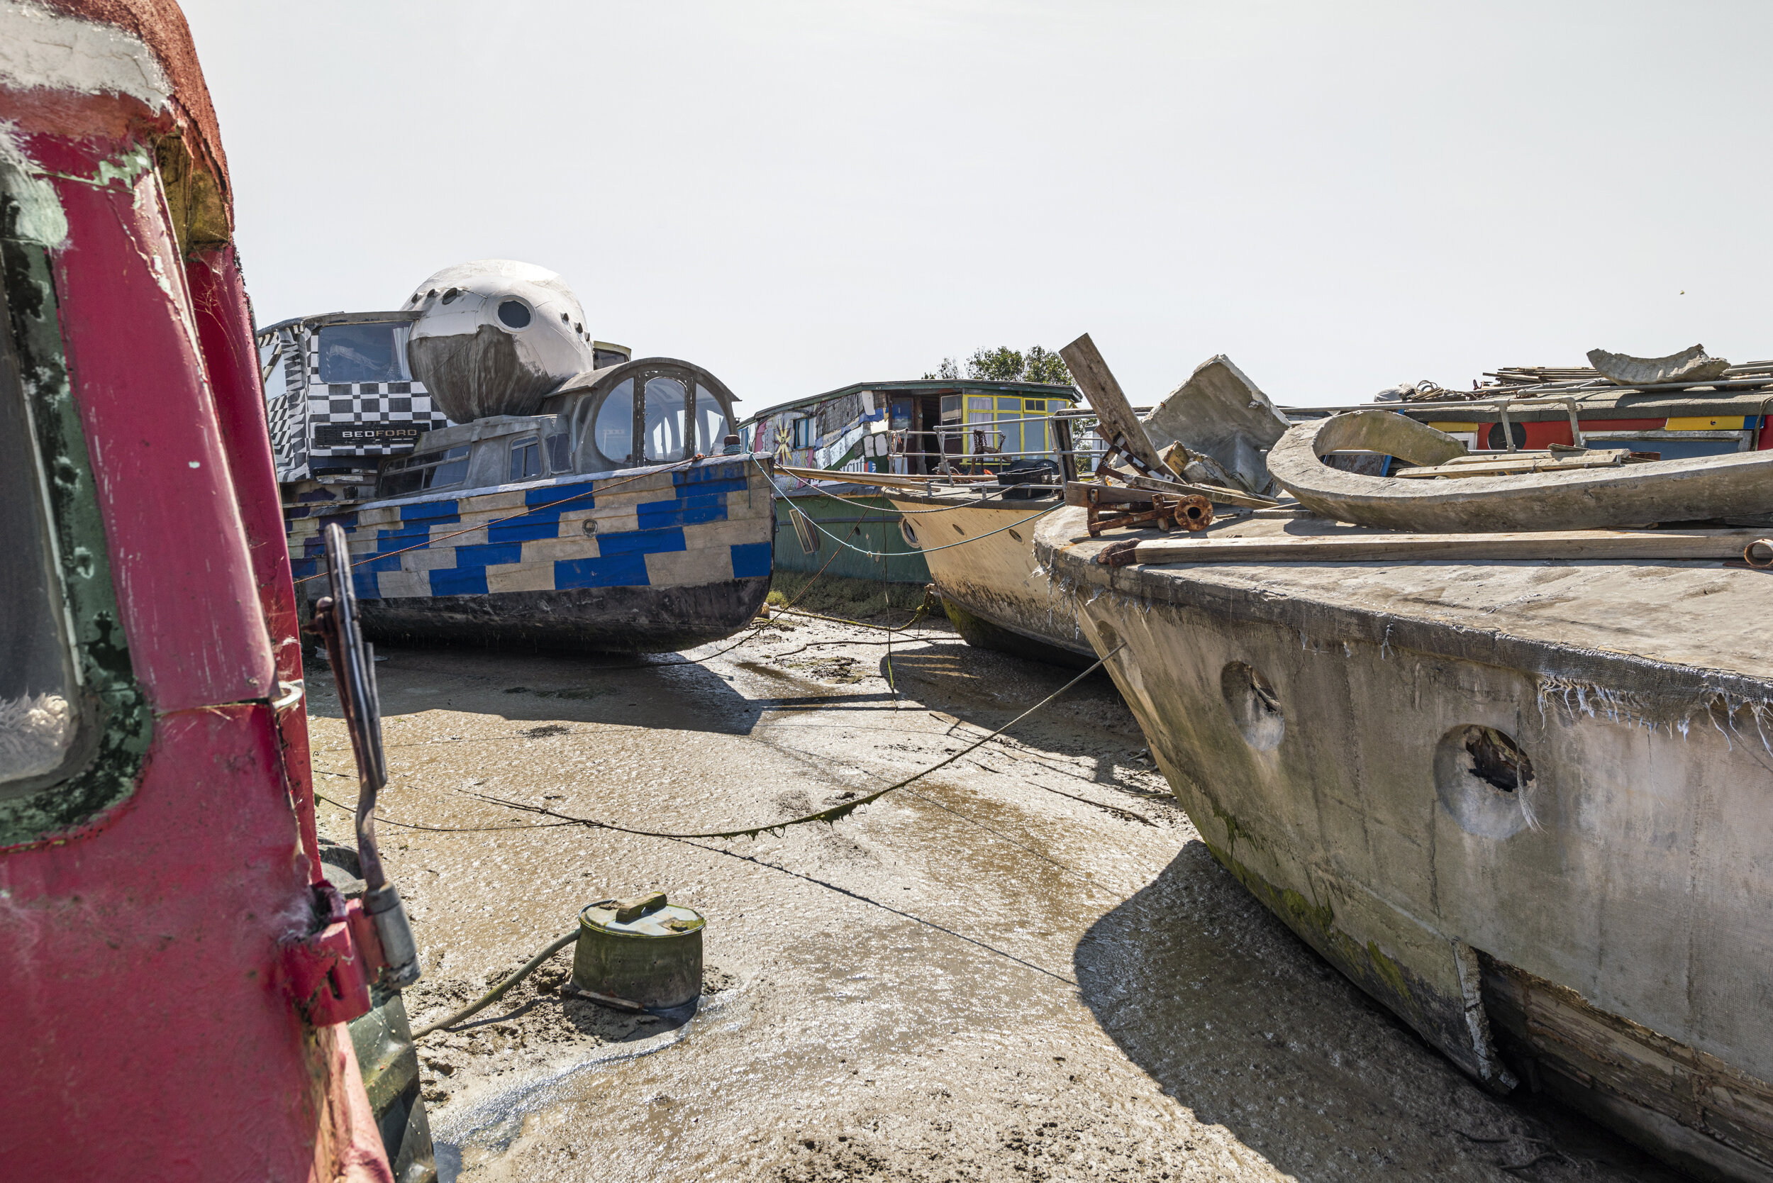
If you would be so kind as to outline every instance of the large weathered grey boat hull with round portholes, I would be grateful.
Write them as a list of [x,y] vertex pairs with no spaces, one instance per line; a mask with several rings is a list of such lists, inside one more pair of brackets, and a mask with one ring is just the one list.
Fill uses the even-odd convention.
[[1764,576],[1115,569],[1110,541],[1060,511],[1037,553],[1124,644],[1108,669],[1220,864],[1491,1089],[1773,1178],[1773,679],[1718,626],[1768,631]]

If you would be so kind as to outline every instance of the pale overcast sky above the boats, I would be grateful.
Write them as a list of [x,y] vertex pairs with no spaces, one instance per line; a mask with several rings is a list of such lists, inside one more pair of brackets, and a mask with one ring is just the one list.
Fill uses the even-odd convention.
[[525,259],[741,413],[1082,332],[1135,403],[1773,355],[1764,0],[184,11],[259,323]]

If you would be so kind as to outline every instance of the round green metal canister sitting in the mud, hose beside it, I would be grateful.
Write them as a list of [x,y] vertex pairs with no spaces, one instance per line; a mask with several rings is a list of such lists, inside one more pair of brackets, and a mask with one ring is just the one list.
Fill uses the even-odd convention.
[[670,1011],[702,997],[702,915],[663,892],[578,913],[573,984],[601,1002]]

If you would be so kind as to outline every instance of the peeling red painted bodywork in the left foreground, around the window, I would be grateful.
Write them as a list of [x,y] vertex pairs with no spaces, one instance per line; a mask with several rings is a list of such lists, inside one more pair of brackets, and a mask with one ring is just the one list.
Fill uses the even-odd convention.
[[167,110],[0,87],[67,222],[51,312],[154,729],[121,803],[0,851],[4,1174],[392,1183],[330,1022],[351,1006],[291,997],[293,949],[363,949],[348,915],[314,931],[307,715],[271,706],[301,662],[246,294],[163,186],[167,160],[202,172],[183,199],[230,225],[209,98],[172,4],[53,11],[140,37],[172,83]]

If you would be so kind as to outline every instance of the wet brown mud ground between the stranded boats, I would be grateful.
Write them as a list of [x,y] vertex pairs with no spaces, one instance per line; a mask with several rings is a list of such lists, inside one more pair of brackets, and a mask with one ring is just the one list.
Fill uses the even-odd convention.
[[[901,617],[902,619],[902,617]],[[1672,1179],[1535,1098],[1496,1100],[1213,858],[1096,676],[837,823],[777,821],[957,752],[1073,672],[924,626],[780,623],[718,656],[385,647],[383,853],[447,1015],[661,889],[707,917],[674,1023],[562,993],[571,949],[420,1041],[441,1178]],[[730,644],[730,642],[727,642]],[[725,646],[709,646],[700,654]],[[355,775],[310,679],[319,791]],[[323,834],[346,812],[321,805]]]

